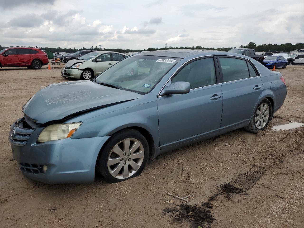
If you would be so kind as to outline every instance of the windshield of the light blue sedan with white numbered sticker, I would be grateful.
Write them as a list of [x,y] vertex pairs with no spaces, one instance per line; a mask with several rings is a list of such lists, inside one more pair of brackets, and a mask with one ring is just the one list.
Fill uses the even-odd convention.
[[96,82],[146,94],[180,59],[149,55],[133,55],[97,76]]

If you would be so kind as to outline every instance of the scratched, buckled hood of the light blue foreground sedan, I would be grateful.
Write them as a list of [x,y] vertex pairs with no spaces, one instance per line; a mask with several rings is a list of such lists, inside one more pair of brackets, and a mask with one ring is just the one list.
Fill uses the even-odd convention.
[[51,84],[38,91],[22,107],[34,123],[66,120],[84,112],[137,99],[143,95],[99,85],[92,81]]

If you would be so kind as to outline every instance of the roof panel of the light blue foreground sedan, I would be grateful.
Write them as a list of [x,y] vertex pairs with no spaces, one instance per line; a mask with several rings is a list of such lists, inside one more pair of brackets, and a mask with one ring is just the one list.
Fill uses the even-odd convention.
[[162,57],[175,57],[175,58],[185,58],[190,55],[214,52],[216,50],[203,50],[203,49],[167,49],[158,51],[145,51],[137,55],[153,55]]

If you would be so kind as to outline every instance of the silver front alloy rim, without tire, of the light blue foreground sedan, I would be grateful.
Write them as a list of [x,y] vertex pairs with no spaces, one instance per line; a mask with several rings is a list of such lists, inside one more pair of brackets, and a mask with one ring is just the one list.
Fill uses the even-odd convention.
[[117,179],[125,179],[135,174],[144,158],[143,144],[134,138],[117,143],[108,157],[108,171]]

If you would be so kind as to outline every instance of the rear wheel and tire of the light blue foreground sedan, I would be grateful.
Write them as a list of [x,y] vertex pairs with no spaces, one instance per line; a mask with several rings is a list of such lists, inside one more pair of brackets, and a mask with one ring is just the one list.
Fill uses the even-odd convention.
[[271,113],[272,106],[270,101],[268,99],[262,100],[259,105],[257,105],[248,126],[244,127],[245,130],[252,133],[264,130],[270,121]]

